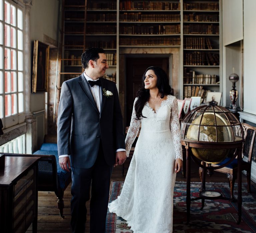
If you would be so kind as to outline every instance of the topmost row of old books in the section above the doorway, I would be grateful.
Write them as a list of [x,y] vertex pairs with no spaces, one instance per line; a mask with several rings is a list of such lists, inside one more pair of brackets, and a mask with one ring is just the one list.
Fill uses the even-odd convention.
[[120,1],[120,10],[180,10],[180,3],[163,1]]

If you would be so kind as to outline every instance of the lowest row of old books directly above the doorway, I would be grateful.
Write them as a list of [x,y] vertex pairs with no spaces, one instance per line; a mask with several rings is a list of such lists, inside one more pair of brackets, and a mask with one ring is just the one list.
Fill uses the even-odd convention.
[[180,38],[120,38],[120,46],[178,46]]

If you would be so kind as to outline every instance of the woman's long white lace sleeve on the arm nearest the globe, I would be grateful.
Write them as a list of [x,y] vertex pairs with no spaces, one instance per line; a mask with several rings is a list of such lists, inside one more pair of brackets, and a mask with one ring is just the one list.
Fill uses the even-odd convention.
[[170,120],[170,128],[172,131],[173,144],[175,150],[175,159],[182,158],[182,147],[181,147],[181,132],[180,132],[180,123],[179,123],[179,115],[178,115],[178,102],[175,98],[172,102],[172,112],[171,112],[171,120]]

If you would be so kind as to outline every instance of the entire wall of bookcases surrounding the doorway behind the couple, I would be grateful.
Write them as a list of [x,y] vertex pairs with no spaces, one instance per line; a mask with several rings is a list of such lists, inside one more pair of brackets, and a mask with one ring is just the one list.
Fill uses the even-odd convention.
[[63,1],[62,81],[82,73],[80,56],[88,47],[105,49],[106,78],[117,86],[119,49],[176,47],[180,98],[220,91],[221,0]]

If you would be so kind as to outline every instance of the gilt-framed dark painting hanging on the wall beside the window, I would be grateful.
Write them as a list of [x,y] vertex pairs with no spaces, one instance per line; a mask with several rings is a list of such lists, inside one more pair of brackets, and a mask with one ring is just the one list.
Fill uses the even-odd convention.
[[34,41],[32,93],[47,92],[49,45]]

